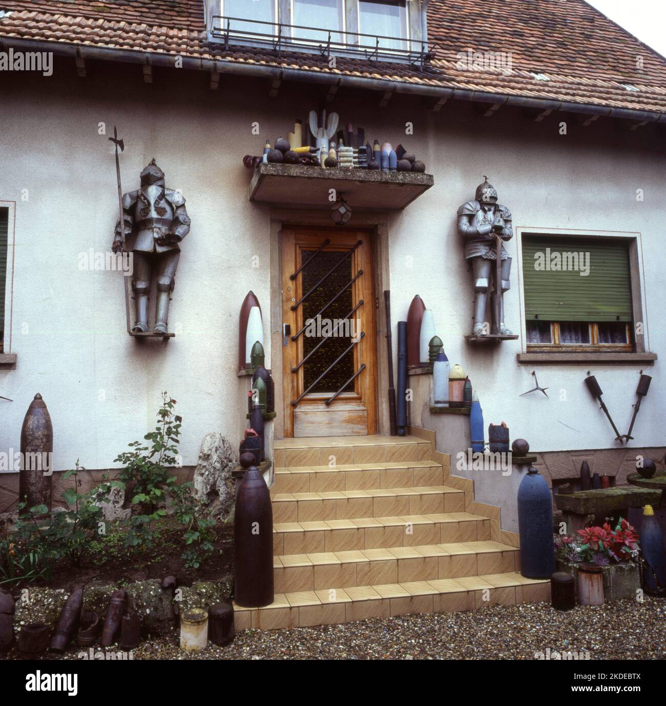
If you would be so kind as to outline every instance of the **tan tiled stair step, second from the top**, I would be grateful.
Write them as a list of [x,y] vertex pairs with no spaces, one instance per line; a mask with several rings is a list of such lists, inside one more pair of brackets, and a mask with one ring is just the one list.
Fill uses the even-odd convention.
[[368,490],[371,488],[411,488],[442,485],[446,482],[441,464],[434,461],[338,464],[334,467],[295,466],[275,469],[275,492],[322,493]]

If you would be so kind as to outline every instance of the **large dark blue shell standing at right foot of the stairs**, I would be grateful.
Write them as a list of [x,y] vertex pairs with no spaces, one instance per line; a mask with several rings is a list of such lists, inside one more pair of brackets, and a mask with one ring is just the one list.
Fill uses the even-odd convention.
[[518,489],[518,528],[521,574],[526,578],[550,578],[555,572],[552,499],[548,484],[534,467]]

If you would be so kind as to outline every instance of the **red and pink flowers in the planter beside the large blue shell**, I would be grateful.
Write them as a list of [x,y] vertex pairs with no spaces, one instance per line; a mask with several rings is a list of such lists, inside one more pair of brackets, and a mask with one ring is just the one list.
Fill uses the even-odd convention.
[[555,553],[558,559],[579,563],[591,561],[598,566],[609,566],[612,561],[637,559],[641,551],[638,533],[629,522],[620,517],[615,529],[605,522],[603,527],[586,527],[578,530],[580,537],[565,534],[555,537]]

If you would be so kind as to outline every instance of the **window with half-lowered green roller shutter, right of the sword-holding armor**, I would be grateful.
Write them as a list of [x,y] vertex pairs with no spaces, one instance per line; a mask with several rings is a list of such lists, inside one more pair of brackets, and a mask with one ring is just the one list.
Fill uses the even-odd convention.
[[528,345],[631,346],[626,241],[526,235],[522,249]]

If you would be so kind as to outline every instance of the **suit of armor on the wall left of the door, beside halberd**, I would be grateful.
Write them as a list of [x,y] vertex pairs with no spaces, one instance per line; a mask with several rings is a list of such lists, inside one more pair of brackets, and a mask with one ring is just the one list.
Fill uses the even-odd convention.
[[[141,172],[141,188],[123,195],[123,220],[128,237],[126,250],[134,257],[132,289],[136,321],[133,332],[148,330],[148,294],[153,274],[157,277],[157,303],[153,333],[166,335],[169,298],[174,291],[181,249],[178,243],[190,232],[190,217],[182,194],[164,186],[164,172],[155,160]],[[112,247],[123,249],[120,221]]]

